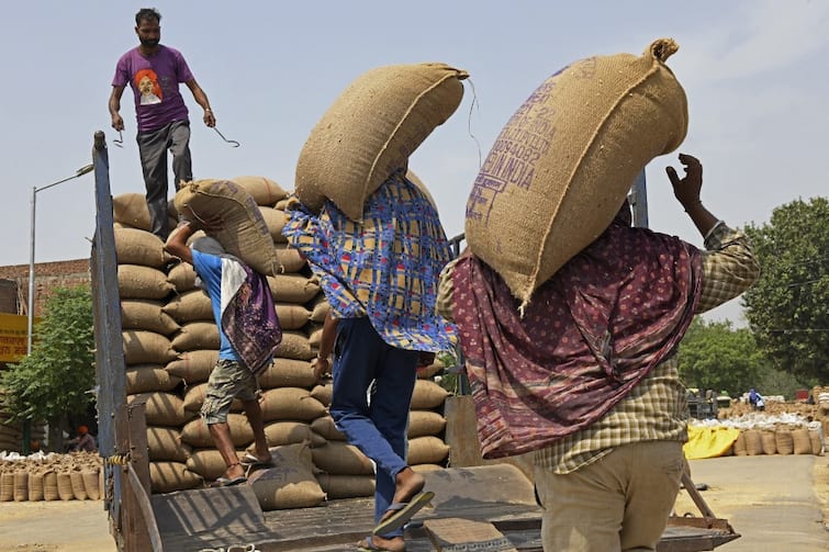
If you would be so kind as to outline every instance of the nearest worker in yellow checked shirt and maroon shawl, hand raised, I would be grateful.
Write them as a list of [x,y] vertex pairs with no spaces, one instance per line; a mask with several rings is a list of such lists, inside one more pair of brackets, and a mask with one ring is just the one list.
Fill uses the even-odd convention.
[[631,227],[625,202],[523,313],[469,251],[441,274],[438,307],[458,324],[484,453],[535,451],[546,551],[656,550],[685,465],[677,346],[696,314],[759,277],[748,237],[703,206],[702,164],[680,160],[686,176],[668,177],[704,251]]

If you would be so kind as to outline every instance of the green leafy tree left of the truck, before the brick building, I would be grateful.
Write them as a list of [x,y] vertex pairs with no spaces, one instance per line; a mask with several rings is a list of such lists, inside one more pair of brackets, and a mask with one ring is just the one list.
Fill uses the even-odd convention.
[[4,408],[14,419],[83,413],[96,384],[92,296],[88,286],[59,288],[34,328],[32,354],[0,373]]

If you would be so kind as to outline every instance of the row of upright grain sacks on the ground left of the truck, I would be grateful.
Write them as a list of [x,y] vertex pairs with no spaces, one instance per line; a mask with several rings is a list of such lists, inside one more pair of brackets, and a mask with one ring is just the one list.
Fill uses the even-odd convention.
[[0,502],[98,500],[102,459],[93,452],[0,453]]

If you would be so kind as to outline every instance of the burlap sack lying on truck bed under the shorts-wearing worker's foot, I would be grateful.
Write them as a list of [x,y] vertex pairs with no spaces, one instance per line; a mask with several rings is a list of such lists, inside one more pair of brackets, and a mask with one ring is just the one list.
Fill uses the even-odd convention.
[[310,508],[325,499],[307,446],[287,444],[270,452],[275,467],[257,470],[248,478],[262,510]]

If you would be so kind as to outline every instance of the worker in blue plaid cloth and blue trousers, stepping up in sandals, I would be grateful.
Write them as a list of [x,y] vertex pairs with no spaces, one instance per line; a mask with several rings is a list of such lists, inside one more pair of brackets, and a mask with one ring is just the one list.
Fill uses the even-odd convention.
[[359,223],[331,201],[318,215],[295,200],[288,212],[283,234],[331,305],[315,374],[331,369],[337,429],[377,466],[377,525],[359,549],[405,550],[403,526],[434,495],[406,461],[417,368],[453,348],[453,328],[435,314],[437,279],[451,258],[446,234],[405,170],[369,195]]

